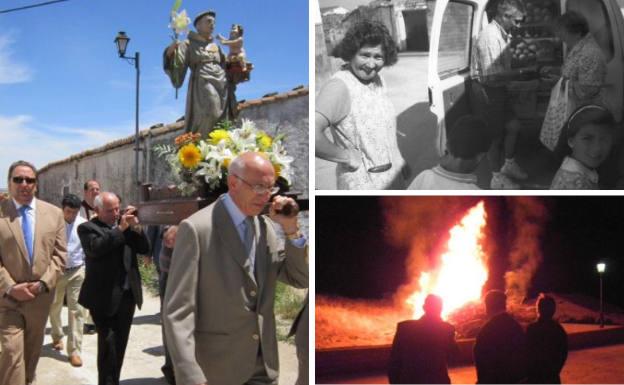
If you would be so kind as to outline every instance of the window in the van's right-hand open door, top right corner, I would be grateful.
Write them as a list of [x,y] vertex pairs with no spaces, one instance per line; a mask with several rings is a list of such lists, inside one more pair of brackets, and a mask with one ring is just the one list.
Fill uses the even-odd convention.
[[576,11],[585,16],[591,32],[607,62],[613,59],[613,35],[611,22],[602,0],[568,0],[568,11]]

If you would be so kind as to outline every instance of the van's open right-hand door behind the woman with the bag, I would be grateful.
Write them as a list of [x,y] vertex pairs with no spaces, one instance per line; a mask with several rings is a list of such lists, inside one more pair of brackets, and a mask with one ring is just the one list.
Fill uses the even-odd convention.
[[624,105],[624,20],[616,0],[562,0],[562,12],[574,10],[585,16],[589,30],[607,60],[605,91],[609,109],[622,121]]

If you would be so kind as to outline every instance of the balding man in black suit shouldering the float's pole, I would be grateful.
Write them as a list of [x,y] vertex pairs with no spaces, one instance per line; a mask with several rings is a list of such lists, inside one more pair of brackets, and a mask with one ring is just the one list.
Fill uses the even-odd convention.
[[137,226],[136,209],[123,212],[119,198],[103,192],[95,200],[97,216],[78,227],[86,275],[79,302],[91,311],[98,334],[98,384],[118,385],[135,306],[143,295],[137,253],[149,241]]

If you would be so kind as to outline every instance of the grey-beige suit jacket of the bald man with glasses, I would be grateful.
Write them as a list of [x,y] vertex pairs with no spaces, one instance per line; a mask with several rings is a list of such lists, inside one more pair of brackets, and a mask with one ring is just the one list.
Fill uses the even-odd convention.
[[278,245],[265,216],[254,218],[256,278],[222,199],[182,221],[164,301],[167,348],[180,385],[240,385],[253,374],[258,347],[278,374],[273,303],[281,280],[308,286],[307,246]]

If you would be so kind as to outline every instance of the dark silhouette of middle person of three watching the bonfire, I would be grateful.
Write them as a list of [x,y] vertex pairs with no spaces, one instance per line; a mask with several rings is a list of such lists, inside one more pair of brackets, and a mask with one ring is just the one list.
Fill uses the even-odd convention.
[[477,384],[514,384],[526,378],[526,336],[506,311],[507,296],[500,290],[485,295],[489,320],[477,335],[474,361]]

